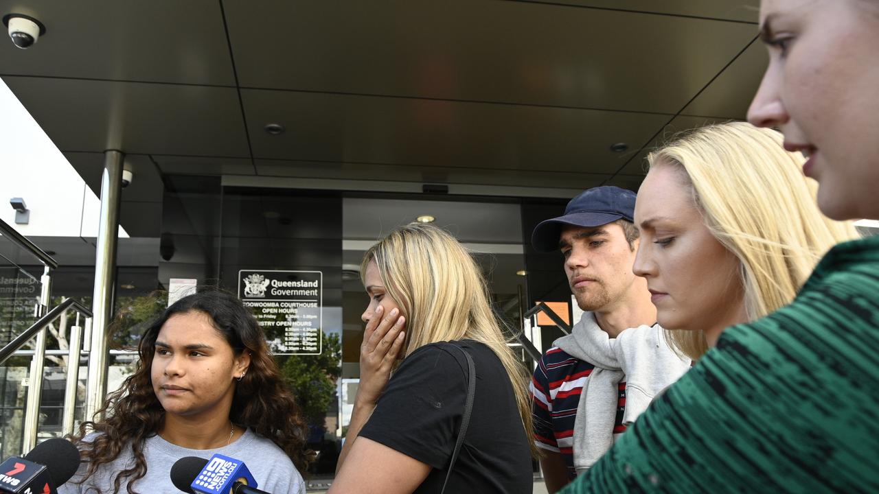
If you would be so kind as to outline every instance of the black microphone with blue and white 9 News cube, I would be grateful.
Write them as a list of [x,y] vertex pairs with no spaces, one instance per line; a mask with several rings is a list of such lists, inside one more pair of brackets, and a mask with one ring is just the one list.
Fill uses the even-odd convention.
[[244,462],[222,454],[210,460],[197,456],[180,458],[171,467],[171,483],[192,494],[270,494],[258,483]]

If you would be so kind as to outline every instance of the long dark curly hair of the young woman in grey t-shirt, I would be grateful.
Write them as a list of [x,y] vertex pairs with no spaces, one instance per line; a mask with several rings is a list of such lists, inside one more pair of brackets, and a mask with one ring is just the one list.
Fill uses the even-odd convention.
[[[150,376],[156,338],[171,316],[193,311],[210,316],[214,328],[226,339],[236,356],[244,351],[251,352],[251,365],[243,379],[236,382],[229,419],[272,440],[301,473],[308,468],[310,455],[305,446],[305,422],[293,395],[281,380],[278,365],[272,359],[256,317],[232,294],[203,291],[175,302],[149,325],[138,345],[141,359],[137,370],[118,391],[108,396],[104,407],[98,411],[106,418],[80,425],[79,434],[72,440],[80,447],[83,461],[89,464],[81,483],[102,465],[115,460],[124,448],[130,447],[134,466],[116,473],[113,493],[118,494],[121,484],[127,482],[127,492],[136,494],[131,484],[147,473],[144,441],[158,433],[164,418],[164,409],[153,391]],[[83,440],[89,429],[97,433],[89,440]]]

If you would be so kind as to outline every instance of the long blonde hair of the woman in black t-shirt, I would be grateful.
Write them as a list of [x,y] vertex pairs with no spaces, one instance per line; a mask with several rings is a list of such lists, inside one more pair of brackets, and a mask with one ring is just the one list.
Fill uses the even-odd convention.
[[[421,223],[391,232],[367,251],[360,272],[375,261],[388,295],[406,317],[403,355],[440,341],[469,338],[488,346],[510,377],[526,437],[531,437],[531,403],[525,367],[507,346],[491,311],[488,287],[476,261],[453,236]],[[534,441],[528,440],[533,455]]]

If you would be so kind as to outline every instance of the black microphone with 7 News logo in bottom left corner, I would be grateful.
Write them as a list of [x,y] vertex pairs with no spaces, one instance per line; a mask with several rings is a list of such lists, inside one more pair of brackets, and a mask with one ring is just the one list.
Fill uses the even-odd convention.
[[0,463],[0,492],[56,494],[56,488],[79,469],[79,450],[69,440],[41,442],[24,458],[12,456]]

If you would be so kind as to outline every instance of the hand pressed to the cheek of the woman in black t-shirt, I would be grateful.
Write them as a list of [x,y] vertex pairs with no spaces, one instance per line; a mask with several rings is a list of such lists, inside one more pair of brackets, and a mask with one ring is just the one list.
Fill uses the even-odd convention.
[[367,323],[360,345],[360,387],[356,400],[374,405],[388,384],[390,371],[403,350],[405,317],[397,309],[385,316],[381,306]]

